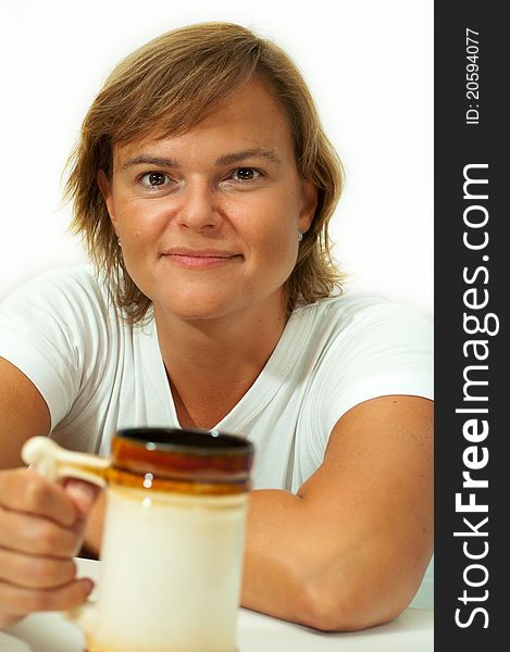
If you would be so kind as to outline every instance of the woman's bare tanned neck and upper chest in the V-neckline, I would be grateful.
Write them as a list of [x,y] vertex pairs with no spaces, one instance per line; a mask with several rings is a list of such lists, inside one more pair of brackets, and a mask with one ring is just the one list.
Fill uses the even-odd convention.
[[182,426],[211,428],[239,402],[286,324],[281,297],[214,319],[187,321],[154,305],[163,361]]

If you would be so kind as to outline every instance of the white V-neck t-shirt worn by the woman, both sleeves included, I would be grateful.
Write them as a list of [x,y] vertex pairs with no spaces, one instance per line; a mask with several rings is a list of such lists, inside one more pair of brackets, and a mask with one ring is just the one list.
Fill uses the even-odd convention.
[[[382,298],[298,308],[261,374],[215,428],[256,447],[253,488],[293,492],[350,408],[433,398],[431,322]],[[108,455],[123,427],[178,427],[153,318],[122,319],[87,265],[47,272],[0,303],[0,355],[38,388],[62,446]]]

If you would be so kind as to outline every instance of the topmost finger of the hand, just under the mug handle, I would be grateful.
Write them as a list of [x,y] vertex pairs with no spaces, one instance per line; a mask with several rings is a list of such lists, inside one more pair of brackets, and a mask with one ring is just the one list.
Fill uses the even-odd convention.
[[67,527],[78,517],[63,487],[29,468],[0,473],[0,505],[16,512],[46,516]]

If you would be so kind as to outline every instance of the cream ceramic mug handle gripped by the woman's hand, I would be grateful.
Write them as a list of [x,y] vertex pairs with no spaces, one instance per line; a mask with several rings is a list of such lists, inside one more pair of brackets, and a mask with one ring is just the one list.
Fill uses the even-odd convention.
[[[110,460],[88,453],[69,451],[49,437],[32,437],[22,449],[22,459],[32,468],[50,481],[60,478],[87,480],[104,488],[108,484]],[[63,615],[85,634],[94,629],[96,606],[91,600],[75,609],[63,612]]]

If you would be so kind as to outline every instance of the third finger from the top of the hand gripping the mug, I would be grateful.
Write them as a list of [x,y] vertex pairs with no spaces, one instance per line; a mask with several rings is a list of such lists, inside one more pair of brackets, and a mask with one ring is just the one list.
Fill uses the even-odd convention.
[[76,576],[71,559],[23,554],[0,548],[0,580],[26,589],[51,589],[70,584]]

